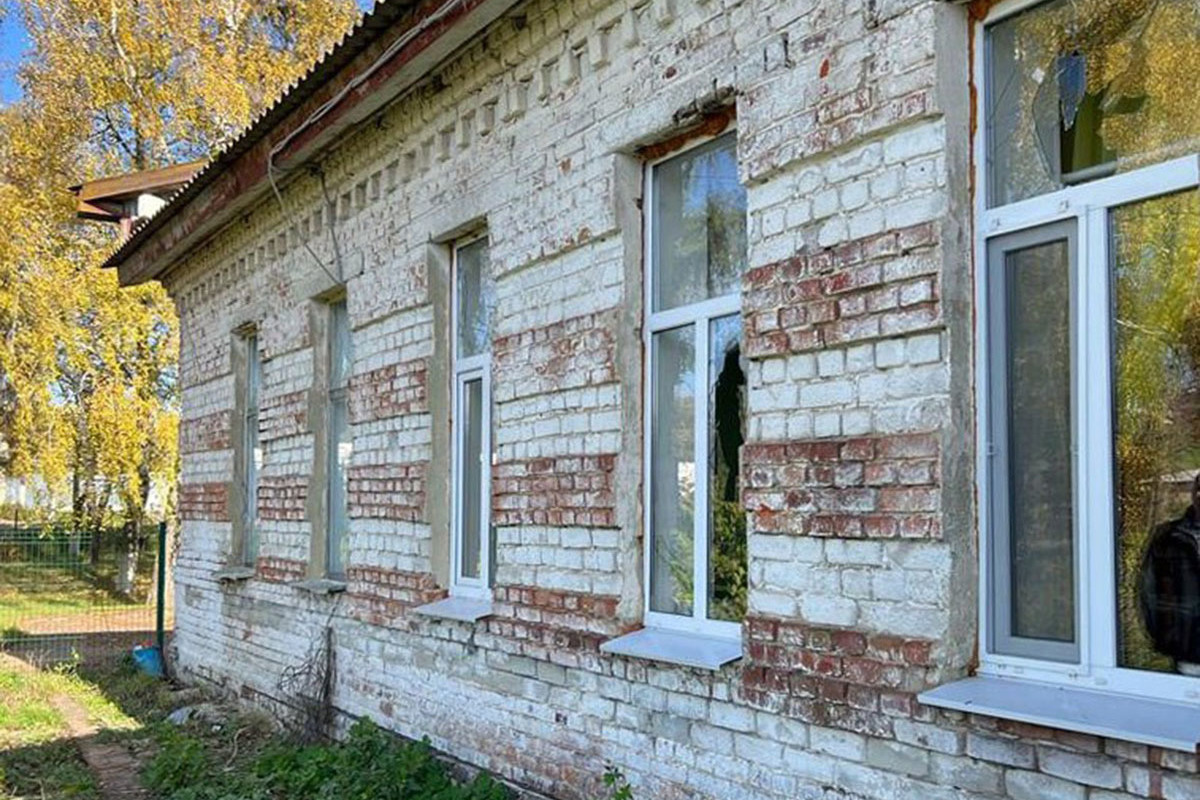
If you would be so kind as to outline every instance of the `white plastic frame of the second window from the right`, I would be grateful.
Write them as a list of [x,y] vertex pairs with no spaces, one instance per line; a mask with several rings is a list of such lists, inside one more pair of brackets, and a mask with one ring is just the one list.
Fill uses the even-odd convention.
[[[710,297],[700,302],[677,306],[665,311],[654,311],[655,269],[654,263],[654,170],[659,164],[673,161],[689,151],[701,148],[715,139],[725,136],[736,137],[736,127],[728,126],[710,137],[697,138],[688,146],[672,151],[671,154],[647,161],[644,166],[644,198],[642,209],[644,215],[644,239],[643,252],[646,253],[646,275],[643,279],[643,303],[646,324],[642,326],[642,351],[644,357],[643,378],[643,463],[642,481],[643,488],[643,529],[646,537],[643,542],[643,602],[646,603],[644,622],[647,627],[678,631],[683,633],[695,633],[710,636],[721,639],[742,639],[742,622],[726,620],[714,620],[708,618],[708,542],[709,542],[709,494],[708,494],[708,464],[712,458],[709,419],[709,387],[712,375],[709,375],[709,332],[712,323],[733,314],[742,313],[742,294],[732,291],[720,297]],[[736,148],[734,139],[734,148]],[[652,581],[654,572],[654,335],[673,329],[691,325],[694,341],[694,380],[695,380],[695,408],[692,409],[692,443],[696,453],[696,486],[692,512],[692,609],[691,615],[668,614],[650,609]],[[744,336],[744,331],[743,331]],[[701,511],[703,510],[703,511]]]

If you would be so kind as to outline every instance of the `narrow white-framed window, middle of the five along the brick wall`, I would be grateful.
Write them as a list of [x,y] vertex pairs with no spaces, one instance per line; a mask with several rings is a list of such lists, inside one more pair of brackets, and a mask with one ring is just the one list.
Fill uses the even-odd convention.
[[455,595],[491,599],[492,309],[496,290],[487,240],[454,248],[454,510]]

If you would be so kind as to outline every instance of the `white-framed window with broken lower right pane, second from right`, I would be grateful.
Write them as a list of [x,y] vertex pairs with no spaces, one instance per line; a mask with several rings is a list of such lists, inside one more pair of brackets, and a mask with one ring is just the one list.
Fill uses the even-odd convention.
[[732,638],[746,607],[734,134],[650,164],[647,182],[647,624]]

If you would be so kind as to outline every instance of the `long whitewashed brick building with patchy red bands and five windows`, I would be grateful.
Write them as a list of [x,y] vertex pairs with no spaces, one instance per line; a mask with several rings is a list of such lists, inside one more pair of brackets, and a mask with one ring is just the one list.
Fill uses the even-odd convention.
[[109,260],[182,324],[175,664],[286,705],[328,636],[337,720],[568,799],[1200,796],[1141,566],[1195,522],[1198,42],[380,2]]

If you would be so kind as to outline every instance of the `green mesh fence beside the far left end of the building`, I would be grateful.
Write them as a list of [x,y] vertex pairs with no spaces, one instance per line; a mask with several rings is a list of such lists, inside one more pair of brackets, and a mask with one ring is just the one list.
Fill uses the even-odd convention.
[[[0,528],[0,651],[35,663],[91,663],[152,643],[157,559],[152,527],[136,533]],[[170,609],[164,610],[169,628]]]

